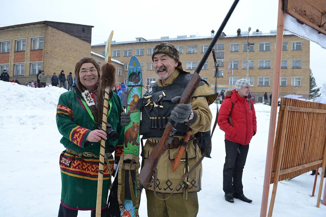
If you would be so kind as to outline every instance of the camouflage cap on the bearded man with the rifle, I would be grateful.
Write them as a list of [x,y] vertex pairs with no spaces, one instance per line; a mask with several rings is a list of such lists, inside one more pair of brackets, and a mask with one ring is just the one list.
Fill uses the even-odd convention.
[[177,66],[177,69],[183,71],[182,63],[179,61],[179,50],[175,48],[175,46],[169,42],[162,42],[154,47],[153,55],[152,55],[152,61],[154,62],[154,56],[158,53],[164,53],[171,57],[173,60],[177,61],[179,64]]

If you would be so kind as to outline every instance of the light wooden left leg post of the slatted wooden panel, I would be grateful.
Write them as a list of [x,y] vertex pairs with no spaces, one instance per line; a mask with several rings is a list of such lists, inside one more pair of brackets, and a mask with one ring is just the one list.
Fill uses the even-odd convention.
[[280,177],[282,156],[283,156],[284,143],[285,143],[285,135],[286,135],[287,123],[288,123],[288,115],[289,115],[288,107],[285,107],[285,110],[284,110],[285,118],[283,119],[283,126],[282,126],[282,131],[281,131],[281,136],[280,136],[281,141],[280,141],[280,145],[279,145],[279,149],[278,149],[278,156],[277,156],[277,161],[276,161],[276,171],[275,171],[275,177],[274,177],[273,191],[272,191],[271,203],[269,205],[269,210],[268,210],[269,217],[271,217],[273,214],[274,202],[275,202],[276,191],[277,191],[277,184],[278,184],[278,179]]

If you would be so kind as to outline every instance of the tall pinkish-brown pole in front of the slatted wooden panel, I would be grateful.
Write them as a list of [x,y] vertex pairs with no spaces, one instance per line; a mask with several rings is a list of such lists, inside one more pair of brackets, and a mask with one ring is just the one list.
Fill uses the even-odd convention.
[[275,126],[276,126],[276,113],[277,113],[277,99],[279,94],[280,83],[280,71],[281,71],[281,59],[282,59],[282,45],[283,45],[283,31],[284,31],[284,12],[282,11],[282,0],[278,0],[278,16],[277,16],[277,32],[276,32],[276,51],[275,51],[275,65],[274,65],[274,77],[273,77],[273,94],[272,94],[272,106],[271,117],[269,121],[265,176],[263,185],[263,194],[261,199],[260,217],[266,217],[269,186],[271,182],[272,172],[272,158],[275,139]]

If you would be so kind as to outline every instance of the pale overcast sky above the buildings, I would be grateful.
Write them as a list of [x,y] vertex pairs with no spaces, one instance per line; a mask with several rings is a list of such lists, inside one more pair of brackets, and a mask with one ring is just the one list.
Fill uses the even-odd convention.
[[[191,3],[194,2],[194,3]],[[195,34],[208,36],[217,31],[233,0],[0,0],[0,27],[43,20],[94,26],[92,45],[104,43],[111,30],[113,39],[132,41],[136,37],[157,39],[162,36]],[[277,0],[240,0],[225,34],[238,28],[263,33],[276,30]],[[310,68],[321,87],[326,82],[326,50],[310,43]]]

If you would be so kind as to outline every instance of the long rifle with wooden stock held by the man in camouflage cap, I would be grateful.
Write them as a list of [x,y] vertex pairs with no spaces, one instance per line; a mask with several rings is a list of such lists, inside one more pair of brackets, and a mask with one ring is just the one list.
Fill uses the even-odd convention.
[[[189,81],[189,83],[187,84],[184,92],[181,95],[181,98],[178,102],[178,104],[183,104],[183,103],[189,103],[190,101],[190,96],[192,95],[193,91],[195,91],[195,89],[197,88],[200,80],[201,80],[201,76],[199,75],[201,68],[203,67],[205,61],[207,60],[209,53],[211,52],[211,50],[213,49],[213,47],[215,46],[215,43],[218,39],[218,37],[220,36],[220,34],[222,33],[226,23],[228,22],[228,20],[230,19],[230,16],[234,10],[234,8],[236,7],[236,5],[238,4],[239,0],[235,0],[228,12],[228,14],[226,15],[226,17],[224,18],[220,28],[218,29],[215,37],[213,38],[211,44],[208,46],[207,51],[205,52],[203,58],[201,59],[199,65],[197,66],[191,80]],[[140,179],[140,183],[143,187],[148,188],[150,186],[150,183],[153,181],[153,178],[155,179],[155,177],[153,176],[153,174],[155,173],[155,176],[157,177],[157,169],[156,166],[158,164],[158,161],[160,159],[160,157],[163,155],[163,153],[166,151],[166,147],[167,147],[167,139],[170,136],[171,130],[173,129],[173,126],[176,125],[176,122],[169,119],[169,122],[167,123],[167,125],[165,126],[165,130],[163,132],[162,138],[160,139],[160,141],[158,142],[158,144],[156,144],[156,146],[153,148],[152,153],[148,156],[146,163],[144,164],[143,168],[141,169],[141,172],[139,174],[139,179]],[[201,160],[203,159],[203,156],[200,158],[200,160],[194,165],[193,168],[191,168],[191,170],[189,170],[183,177],[183,179],[190,173],[192,172],[201,162]],[[182,179],[182,180],[183,180]],[[155,185],[156,183],[154,183]],[[154,186],[155,187],[155,186]]]

